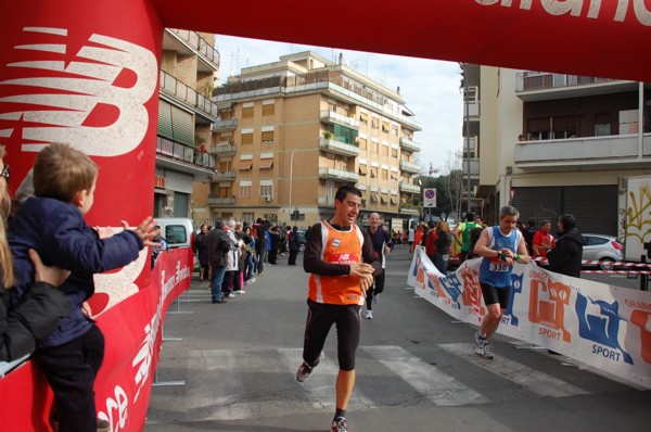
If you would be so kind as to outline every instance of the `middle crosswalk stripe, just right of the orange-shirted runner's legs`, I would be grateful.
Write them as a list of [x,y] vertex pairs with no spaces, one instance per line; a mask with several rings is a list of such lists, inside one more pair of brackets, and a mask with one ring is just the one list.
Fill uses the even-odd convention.
[[465,386],[400,346],[362,346],[361,350],[439,406],[485,404],[487,397]]

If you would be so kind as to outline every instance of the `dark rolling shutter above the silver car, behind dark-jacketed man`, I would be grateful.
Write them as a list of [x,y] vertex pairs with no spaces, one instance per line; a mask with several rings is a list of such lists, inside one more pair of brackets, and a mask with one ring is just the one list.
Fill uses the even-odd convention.
[[580,232],[617,236],[616,185],[565,187],[563,204]]

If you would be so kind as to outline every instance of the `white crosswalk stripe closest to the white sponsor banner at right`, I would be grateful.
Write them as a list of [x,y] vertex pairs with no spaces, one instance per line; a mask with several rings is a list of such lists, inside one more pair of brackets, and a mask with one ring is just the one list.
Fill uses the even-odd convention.
[[506,357],[494,354],[493,360],[486,360],[475,354],[472,343],[450,343],[438,346],[482,369],[513,381],[539,396],[565,397],[590,393]]

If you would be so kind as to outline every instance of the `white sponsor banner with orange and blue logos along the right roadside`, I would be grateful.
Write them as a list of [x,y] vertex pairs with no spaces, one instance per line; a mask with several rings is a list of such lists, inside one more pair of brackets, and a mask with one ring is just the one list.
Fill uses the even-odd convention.
[[[480,325],[486,313],[481,258],[443,276],[423,247],[407,283],[458,320]],[[515,264],[498,332],[559,352],[651,389],[651,293],[571,278]]]

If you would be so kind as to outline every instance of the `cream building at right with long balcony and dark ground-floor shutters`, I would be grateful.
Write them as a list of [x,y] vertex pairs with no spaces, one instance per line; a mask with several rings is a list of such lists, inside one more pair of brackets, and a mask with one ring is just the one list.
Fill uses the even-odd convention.
[[628,176],[651,174],[650,84],[481,66],[480,185],[497,219],[577,218],[623,236]]

